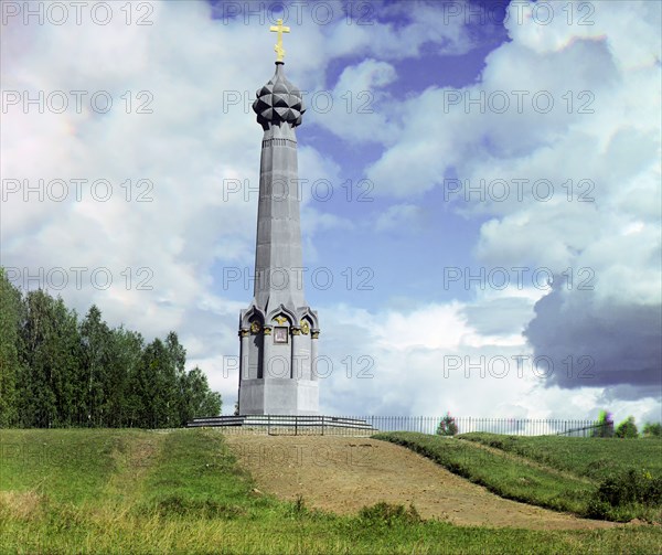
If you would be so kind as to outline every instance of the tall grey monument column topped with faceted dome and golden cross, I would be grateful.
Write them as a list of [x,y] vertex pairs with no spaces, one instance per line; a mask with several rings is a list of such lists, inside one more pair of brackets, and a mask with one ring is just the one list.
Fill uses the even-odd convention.
[[306,303],[299,224],[297,137],[303,98],[284,72],[282,20],[276,73],[257,92],[253,109],[264,129],[250,306],[239,314],[239,414],[316,415],[319,325]]

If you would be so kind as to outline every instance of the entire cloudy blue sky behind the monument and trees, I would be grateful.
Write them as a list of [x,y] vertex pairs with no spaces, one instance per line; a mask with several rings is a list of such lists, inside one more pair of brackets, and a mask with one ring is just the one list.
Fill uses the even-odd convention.
[[660,420],[659,2],[1,8],[17,286],[175,330],[232,413],[282,18],[321,413]]

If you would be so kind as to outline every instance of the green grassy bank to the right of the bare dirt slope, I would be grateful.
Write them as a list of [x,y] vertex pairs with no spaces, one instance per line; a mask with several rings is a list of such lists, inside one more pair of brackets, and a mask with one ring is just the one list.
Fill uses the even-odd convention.
[[[407,431],[374,437],[419,452],[506,499],[569,511],[585,517],[620,522],[631,519],[662,521],[660,505],[630,503],[609,506],[596,500],[600,485],[597,478],[618,477],[632,466],[659,472],[655,441],[633,440],[636,442],[629,444],[626,450],[619,440],[597,438],[520,438],[495,434],[447,438]],[[588,445],[590,441],[597,444]],[[558,453],[555,453],[556,449]],[[599,472],[592,470],[596,461],[611,460],[612,452],[617,462],[611,463],[610,471],[604,467]],[[577,466],[572,461],[576,461]]]

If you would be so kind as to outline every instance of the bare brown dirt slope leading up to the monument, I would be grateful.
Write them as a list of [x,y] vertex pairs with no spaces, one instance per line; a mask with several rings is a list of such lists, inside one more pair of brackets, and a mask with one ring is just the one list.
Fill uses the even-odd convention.
[[414,504],[425,519],[536,530],[616,524],[502,499],[404,447],[367,438],[227,435],[263,491],[307,506],[356,513],[380,501]]

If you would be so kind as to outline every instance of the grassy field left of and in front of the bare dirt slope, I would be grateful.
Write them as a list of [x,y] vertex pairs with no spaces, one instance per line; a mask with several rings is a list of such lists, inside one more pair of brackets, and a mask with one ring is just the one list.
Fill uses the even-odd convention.
[[[323,479],[323,476],[320,477]],[[254,491],[217,430],[0,430],[2,553],[659,553],[656,526],[536,532],[308,511]]]

